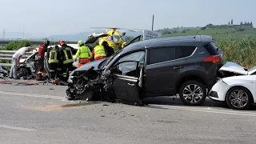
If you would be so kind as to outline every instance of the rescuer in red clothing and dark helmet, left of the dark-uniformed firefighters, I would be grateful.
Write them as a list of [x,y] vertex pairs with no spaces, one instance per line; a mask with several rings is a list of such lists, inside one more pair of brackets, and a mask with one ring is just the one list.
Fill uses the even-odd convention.
[[44,55],[47,52],[48,46],[50,46],[50,42],[46,40],[42,45],[38,47],[38,81],[43,80],[42,71],[44,70]]

